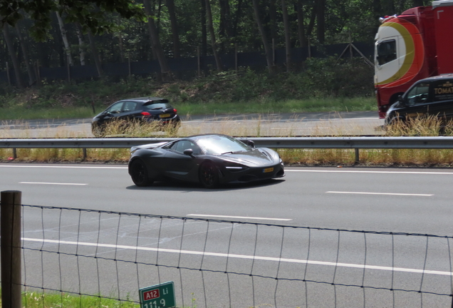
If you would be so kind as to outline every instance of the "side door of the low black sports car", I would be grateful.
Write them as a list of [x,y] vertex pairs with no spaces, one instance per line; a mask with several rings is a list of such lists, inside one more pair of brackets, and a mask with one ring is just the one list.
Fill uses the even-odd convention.
[[[192,149],[193,155],[184,154],[184,150]],[[165,173],[179,180],[198,180],[199,154],[201,150],[191,140],[177,140],[167,148],[165,153]]]

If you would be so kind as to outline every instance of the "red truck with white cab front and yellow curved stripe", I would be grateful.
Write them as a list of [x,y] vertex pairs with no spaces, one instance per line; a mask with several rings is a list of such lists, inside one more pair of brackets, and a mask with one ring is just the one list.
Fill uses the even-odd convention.
[[415,81],[453,73],[453,0],[381,19],[375,36],[379,118]]

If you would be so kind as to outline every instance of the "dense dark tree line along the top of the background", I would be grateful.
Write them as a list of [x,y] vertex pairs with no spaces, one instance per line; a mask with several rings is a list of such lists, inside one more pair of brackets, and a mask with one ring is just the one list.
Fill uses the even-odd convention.
[[[271,48],[372,42],[379,17],[399,14],[427,0],[0,0],[3,30],[0,71],[6,63],[16,84],[33,83],[39,66],[83,66],[263,51]],[[291,68],[291,54],[286,53]]]

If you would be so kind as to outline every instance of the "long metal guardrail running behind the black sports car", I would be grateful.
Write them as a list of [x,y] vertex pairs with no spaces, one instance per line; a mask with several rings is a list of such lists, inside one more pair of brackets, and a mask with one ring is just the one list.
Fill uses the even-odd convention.
[[[131,148],[135,145],[172,141],[176,138],[83,138],[83,139],[0,139],[0,148]],[[294,137],[237,138],[252,140],[257,148],[340,148],[355,149],[453,149],[453,137]]]

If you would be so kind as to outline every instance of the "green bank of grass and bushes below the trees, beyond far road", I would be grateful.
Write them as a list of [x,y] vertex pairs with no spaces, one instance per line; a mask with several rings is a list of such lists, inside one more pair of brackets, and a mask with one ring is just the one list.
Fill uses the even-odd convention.
[[373,68],[360,59],[336,62],[313,58],[297,73],[276,75],[243,68],[168,83],[132,76],[45,83],[24,91],[6,87],[0,91],[0,120],[91,118],[115,101],[142,96],[168,98],[182,116],[377,110]]

